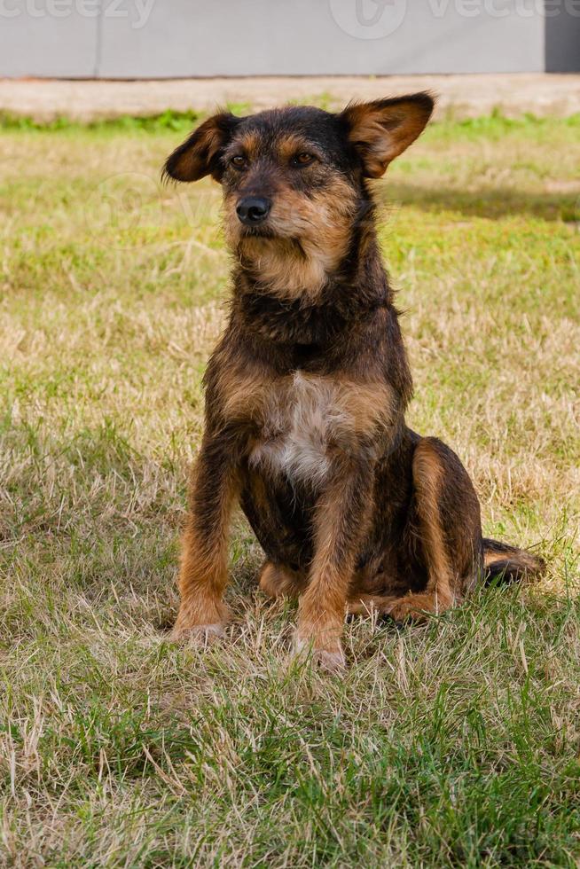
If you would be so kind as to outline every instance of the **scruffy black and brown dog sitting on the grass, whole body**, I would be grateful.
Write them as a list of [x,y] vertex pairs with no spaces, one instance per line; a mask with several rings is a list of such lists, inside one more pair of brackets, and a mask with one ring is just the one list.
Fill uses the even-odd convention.
[[175,638],[221,634],[239,503],[300,598],[296,647],[344,663],[347,612],[443,613],[486,574],[542,562],[482,538],[455,453],[405,425],[411,373],[380,259],[369,178],[425,128],[427,93],[348,106],[216,114],[167,160],[223,185],[235,257],[228,325],[205,375],[206,428],[183,539]]

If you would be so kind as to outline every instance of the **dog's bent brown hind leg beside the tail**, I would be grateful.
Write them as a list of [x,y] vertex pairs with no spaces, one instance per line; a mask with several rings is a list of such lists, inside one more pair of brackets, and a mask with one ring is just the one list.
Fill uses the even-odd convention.
[[422,438],[412,480],[413,533],[427,585],[380,607],[396,621],[445,612],[461,601],[481,569],[479,503],[459,458],[436,438]]

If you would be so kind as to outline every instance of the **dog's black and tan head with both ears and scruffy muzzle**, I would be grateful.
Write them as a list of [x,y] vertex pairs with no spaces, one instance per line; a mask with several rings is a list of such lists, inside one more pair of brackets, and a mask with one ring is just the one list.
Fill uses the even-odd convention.
[[[223,185],[226,238],[241,258],[285,283],[320,284],[340,262],[366,178],[411,145],[433,111],[426,93],[348,106],[341,114],[289,106],[239,118],[216,114],[169,156],[177,181]],[[310,263],[310,275],[288,260]]]

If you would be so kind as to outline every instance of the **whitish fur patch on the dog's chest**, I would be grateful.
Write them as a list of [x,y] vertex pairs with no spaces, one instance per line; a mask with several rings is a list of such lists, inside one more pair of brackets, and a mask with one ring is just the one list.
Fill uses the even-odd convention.
[[268,466],[291,481],[322,483],[330,466],[328,447],[350,427],[341,397],[336,381],[295,372],[265,409],[262,440],[252,450],[250,464]]

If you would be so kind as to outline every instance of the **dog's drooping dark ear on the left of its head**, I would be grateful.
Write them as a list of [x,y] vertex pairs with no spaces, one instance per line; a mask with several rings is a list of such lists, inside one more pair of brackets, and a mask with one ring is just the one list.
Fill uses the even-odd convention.
[[240,119],[230,112],[208,118],[193,130],[192,135],[169,155],[163,176],[176,181],[198,181],[211,175],[220,181],[223,174],[221,156]]

